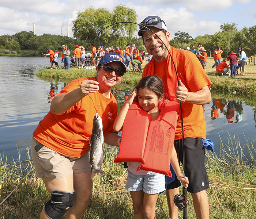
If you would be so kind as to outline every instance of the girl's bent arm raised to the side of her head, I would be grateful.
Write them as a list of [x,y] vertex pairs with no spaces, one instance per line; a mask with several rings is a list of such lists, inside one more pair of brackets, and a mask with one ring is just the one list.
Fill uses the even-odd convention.
[[120,112],[118,113],[117,117],[116,117],[116,120],[114,122],[114,126],[113,126],[113,129],[115,131],[121,131],[122,128],[123,128],[123,124],[124,124],[124,119],[125,119],[125,116],[129,110],[129,106],[132,104],[133,102],[133,99],[134,97],[136,96],[137,94],[135,93],[135,91],[133,91],[127,101],[124,103],[123,107],[121,108]]

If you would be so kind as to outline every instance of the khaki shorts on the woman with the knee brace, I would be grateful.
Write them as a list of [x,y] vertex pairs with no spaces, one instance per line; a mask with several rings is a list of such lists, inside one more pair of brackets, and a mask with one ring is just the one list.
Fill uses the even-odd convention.
[[89,152],[82,157],[67,157],[31,138],[31,155],[36,177],[63,178],[91,171]]

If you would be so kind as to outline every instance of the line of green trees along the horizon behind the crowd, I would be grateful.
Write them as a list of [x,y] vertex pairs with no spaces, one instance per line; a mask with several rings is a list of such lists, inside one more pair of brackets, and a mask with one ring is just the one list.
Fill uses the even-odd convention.
[[[78,12],[77,19],[73,21],[74,37],[43,34],[34,35],[33,31],[21,31],[14,35],[0,36],[0,53],[18,53],[40,56],[46,53],[47,48],[60,49],[61,45],[68,45],[74,50],[76,45],[85,47],[86,52],[91,51],[91,43],[97,46],[122,47],[127,43],[135,43],[138,49],[144,48],[142,38],[137,36],[138,15],[134,9],[120,4],[112,11],[99,7],[94,9],[89,7],[82,12]],[[128,23],[131,22],[131,23]],[[170,41],[170,45],[176,48],[186,49],[188,46],[197,47],[201,43],[207,50],[208,56],[216,46],[223,50],[223,56],[227,56],[230,51],[237,51],[242,47],[246,55],[256,54],[256,25],[244,27],[238,31],[237,24],[224,23],[220,30],[213,35],[197,36],[194,39],[188,32],[175,32],[175,37]]]

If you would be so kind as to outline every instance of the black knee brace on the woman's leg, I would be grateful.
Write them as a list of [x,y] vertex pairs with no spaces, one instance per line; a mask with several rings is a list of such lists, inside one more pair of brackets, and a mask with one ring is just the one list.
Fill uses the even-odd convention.
[[73,207],[75,191],[63,192],[53,190],[52,199],[45,204],[45,213],[50,219],[61,218],[70,208]]

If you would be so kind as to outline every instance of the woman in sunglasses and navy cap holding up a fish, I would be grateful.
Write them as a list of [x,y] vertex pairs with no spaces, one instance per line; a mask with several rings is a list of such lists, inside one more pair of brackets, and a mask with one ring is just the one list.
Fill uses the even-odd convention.
[[[50,111],[39,122],[31,138],[36,176],[42,178],[51,199],[40,218],[81,218],[93,188],[89,139],[96,113],[102,119],[104,142],[120,145],[113,130],[117,101],[110,90],[127,68],[117,53],[106,53],[92,78],[77,78],[56,95]],[[119,143],[118,143],[119,142]]]

